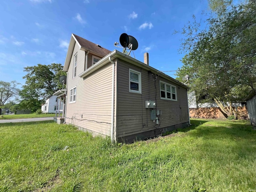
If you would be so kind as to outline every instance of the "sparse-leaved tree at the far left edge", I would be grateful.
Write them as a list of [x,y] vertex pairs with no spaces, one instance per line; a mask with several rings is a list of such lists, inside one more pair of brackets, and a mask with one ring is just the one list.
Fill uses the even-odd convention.
[[[18,96],[20,83],[16,81],[4,82],[0,81],[0,107],[4,106],[10,98]],[[2,114],[2,109],[0,108],[0,114]]]

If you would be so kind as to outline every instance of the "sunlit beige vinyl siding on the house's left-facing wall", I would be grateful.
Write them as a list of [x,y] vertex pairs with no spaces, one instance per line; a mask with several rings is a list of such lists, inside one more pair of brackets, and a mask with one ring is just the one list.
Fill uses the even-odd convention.
[[[108,136],[111,126],[112,65],[106,64],[86,78],[80,78],[79,74],[84,72],[85,53],[75,45],[68,74],[72,74],[76,52],[78,75],[75,78],[68,76],[66,122]],[[92,58],[90,53],[88,58]],[[70,89],[74,87],[76,102],[69,103]]]

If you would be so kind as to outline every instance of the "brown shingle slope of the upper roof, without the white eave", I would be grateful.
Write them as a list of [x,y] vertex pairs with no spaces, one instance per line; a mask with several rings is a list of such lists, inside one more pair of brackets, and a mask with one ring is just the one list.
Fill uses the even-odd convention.
[[76,38],[76,40],[78,41],[78,43],[82,46],[82,48],[84,48],[85,50],[90,50],[91,52],[94,52],[96,54],[99,54],[101,56],[106,56],[107,54],[109,54],[111,51],[107,50],[103,47],[99,47],[97,44],[90,42],[80,36],[77,36],[75,34],[73,34],[74,37]]

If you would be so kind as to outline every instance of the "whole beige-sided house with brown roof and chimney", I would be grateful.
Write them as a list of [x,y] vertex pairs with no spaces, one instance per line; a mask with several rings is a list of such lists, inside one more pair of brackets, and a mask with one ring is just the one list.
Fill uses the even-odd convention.
[[122,142],[188,126],[188,87],[144,62],[72,34],[65,123]]

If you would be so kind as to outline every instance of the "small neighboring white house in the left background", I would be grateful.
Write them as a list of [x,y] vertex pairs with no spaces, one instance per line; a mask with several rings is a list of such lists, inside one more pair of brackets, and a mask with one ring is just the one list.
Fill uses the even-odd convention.
[[58,110],[59,108],[62,109],[62,105],[62,102],[60,102],[60,100],[57,99],[57,96],[53,95],[46,100],[45,104],[42,104],[41,110],[43,113],[55,113],[56,110]]

